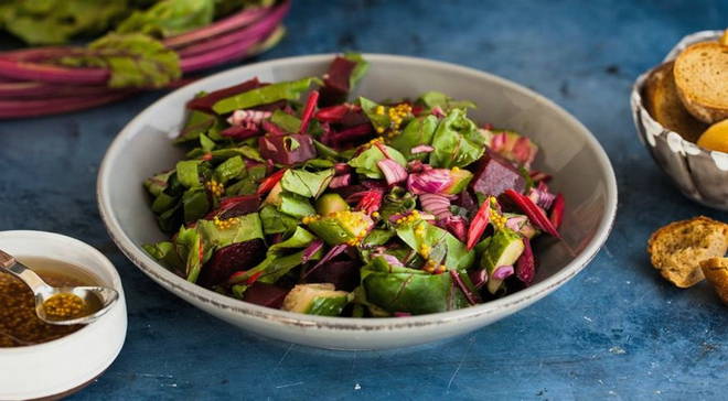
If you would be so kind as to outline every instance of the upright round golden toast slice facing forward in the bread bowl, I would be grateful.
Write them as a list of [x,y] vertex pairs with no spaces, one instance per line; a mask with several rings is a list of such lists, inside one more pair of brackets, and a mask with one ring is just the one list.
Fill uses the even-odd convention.
[[695,118],[707,123],[728,118],[728,46],[693,44],[675,58],[673,74],[677,94]]

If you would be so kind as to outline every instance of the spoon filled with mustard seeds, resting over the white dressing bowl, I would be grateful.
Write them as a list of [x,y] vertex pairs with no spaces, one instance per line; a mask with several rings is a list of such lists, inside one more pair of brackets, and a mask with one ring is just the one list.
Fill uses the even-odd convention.
[[106,286],[51,286],[13,256],[0,250],[0,270],[22,280],[35,295],[35,314],[49,324],[89,324],[119,299],[119,293]]

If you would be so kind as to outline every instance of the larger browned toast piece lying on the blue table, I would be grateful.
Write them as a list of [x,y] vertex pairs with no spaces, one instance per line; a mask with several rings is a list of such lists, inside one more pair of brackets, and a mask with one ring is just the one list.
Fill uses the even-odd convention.
[[728,224],[703,216],[668,224],[656,230],[647,242],[652,265],[683,289],[705,279],[700,261],[722,258],[727,250]]

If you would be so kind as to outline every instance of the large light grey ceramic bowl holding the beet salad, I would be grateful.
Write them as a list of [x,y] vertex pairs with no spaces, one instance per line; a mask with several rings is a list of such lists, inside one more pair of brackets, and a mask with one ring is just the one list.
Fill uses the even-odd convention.
[[160,99],[127,124],[111,143],[98,175],[98,205],[108,231],[131,261],[152,280],[193,305],[245,329],[324,348],[372,349],[421,344],[485,326],[520,311],[567,282],[604,243],[617,209],[617,185],[609,159],[591,133],[544,97],[496,76],[422,58],[366,54],[371,63],[357,93],[373,98],[416,97],[441,90],[474,100],[477,121],[507,127],[533,138],[543,152],[536,167],[554,173],[554,187],[567,199],[561,232],[575,249],[545,240],[531,288],[459,311],[398,318],[344,318],[267,308],[192,284],[158,264],[141,248],[164,236],[157,228],[141,182],[173,166],[182,152],[170,142],[184,119],[184,104],[197,91],[258,76],[264,82],[298,79],[325,72],[333,55],[292,57],[216,74]]

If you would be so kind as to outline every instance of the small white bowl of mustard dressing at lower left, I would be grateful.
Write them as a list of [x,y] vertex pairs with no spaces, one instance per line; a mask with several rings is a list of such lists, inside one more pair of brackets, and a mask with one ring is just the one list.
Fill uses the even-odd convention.
[[114,264],[93,247],[43,231],[2,231],[0,249],[20,257],[43,257],[74,264],[119,292],[98,321],[65,337],[26,347],[0,348],[0,400],[61,397],[101,375],[121,350],[127,307]]

